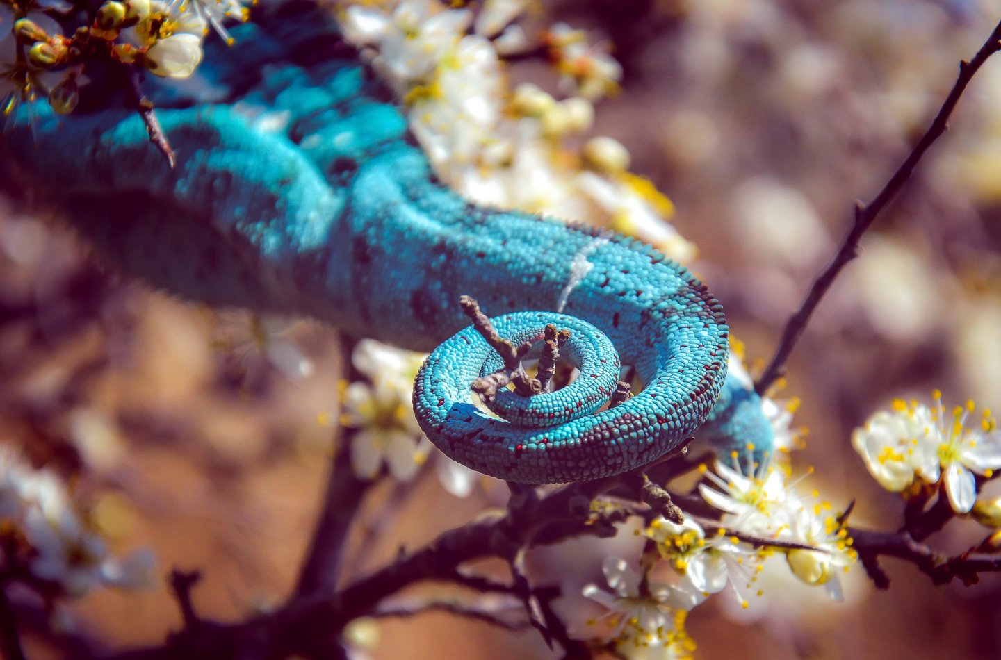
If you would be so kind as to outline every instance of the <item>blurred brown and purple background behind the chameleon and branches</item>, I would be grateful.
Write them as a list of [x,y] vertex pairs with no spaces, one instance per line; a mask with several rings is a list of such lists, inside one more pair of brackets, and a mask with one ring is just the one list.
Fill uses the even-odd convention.
[[[882,187],[960,58],[999,19],[987,0],[566,0],[541,3],[527,23],[566,21],[613,44],[622,92],[597,105],[592,132],[625,144],[633,171],[674,202],[675,227],[698,246],[693,270],[760,369],[854,200]],[[509,73],[556,87],[544,62]],[[200,570],[203,616],[233,620],[280,603],[309,540],[339,415],[336,333],[309,321],[262,330],[243,312],[151,291],[102,267],[56,214],[24,209],[0,198],[0,441],[65,477],[115,551],[153,548],[157,577]],[[947,405],[1001,408],[1001,56],[862,245],[779,396],[800,399],[794,426],[809,429],[794,474],[815,466],[810,484],[835,508],[855,498],[855,524],[893,529],[902,500],[870,478],[852,430],[893,398],[928,401],[935,388]],[[282,371],[274,341],[311,371]],[[456,498],[430,467],[409,484],[381,483],[345,579],[506,497],[484,482]],[[930,543],[958,551],[982,536],[956,522]],[[531,554],[533,574],[563,576],[562,611],[584,612],[568,618],[592,612],[577,594],[602,581],[602,558],[638,552],[631,529],[620,537]],[[911,566],[884,565],[888,592],[856,566],[841,604],[782,575],[764,581],[748,612],[720,594],[689,617],[698,655],[1001,656],[995,576],[934,587]],[[119,649],[180,623],[163,580],[95,590],[66,614],[63,630]],[[46,622],[26,625],[33,657],[72,654]],[[379,621],[364,636],[374,658],[441,657],[442,639],[449,657],[550,657],[534,631],[443,614]]]

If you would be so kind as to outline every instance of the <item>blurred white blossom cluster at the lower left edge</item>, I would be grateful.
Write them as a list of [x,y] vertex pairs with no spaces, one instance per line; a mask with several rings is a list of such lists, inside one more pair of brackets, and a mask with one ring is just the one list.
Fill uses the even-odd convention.
[[8,445],[0,445],[0,521],[2,570],[26,576],[43,593],[77,597],[101,585],[133,589],[152,583],[150,551],[112,557],[59,477],[31,469]]

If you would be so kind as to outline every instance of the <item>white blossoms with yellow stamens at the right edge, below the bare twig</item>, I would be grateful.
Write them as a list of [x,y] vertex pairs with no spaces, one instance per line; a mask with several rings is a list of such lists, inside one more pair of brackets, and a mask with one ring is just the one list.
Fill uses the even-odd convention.
[[1001,468],[1001,431],[989,410],[976,419],[972,401],[949,415],[942,393],[932,398],[932,406],[894,401],[892,411],[856,429],[852,444],[887,490],[908,496],[941,483],[953,510],[969,513],[977,500],[975,475],[990,477]]

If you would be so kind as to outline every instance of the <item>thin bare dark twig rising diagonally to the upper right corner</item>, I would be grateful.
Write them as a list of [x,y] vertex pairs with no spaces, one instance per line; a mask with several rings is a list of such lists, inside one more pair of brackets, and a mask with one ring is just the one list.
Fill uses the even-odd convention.
[[893,173],[893,176],[883,186],[883,189],[879,191],[869,204],[856,202],[855,221],[851,229],[842,240],[834,259],[820,272],[800,308],[786,323],[782,339],[775,351],[775,355],[772,357],[772,361],[758,379],[758,382],[755,383],[756,392],[759,394],[765,393],[772,383],[785,372],[786,361],[789,359],[790,353],[793,352],[796,343],[803,335],[803,331],[806,329],[807,323],[810,321],[810,317],[813,315],[817,305],[820,304],[821,299],[827,293],[828,289],[831,288],[831,285],[834,284],[834,280],[841,270],[848,262],[858,256],[859,241],[862,239],[862,235],[869,229],[886,205],[897,195],[904,183],[911,177],[914,168],[917,167],[918,162],[924,156],[925,152],[928,151],[928,148],[945,133],[948,128],[949,117],[956,107],[960,96],[966,90],[966,86],[973,78],[973,75],[991,55],[1001,49],[1001,42],[999,40],[1001,40],[1001,22],[995,26],[994,31],[991,32],[987,41],[980,47],[980,50],[977,51],[972,60],[963,60],[960,62],[959,76],[956,78],[956,83],[953,85],[952,91],[949,92],[949,95],[943,101],[942,106],[928,126],[925,134],[921,136],[914,149],[911,150],[911,153],[908,154],[904,162],[897,168],[897,171]]

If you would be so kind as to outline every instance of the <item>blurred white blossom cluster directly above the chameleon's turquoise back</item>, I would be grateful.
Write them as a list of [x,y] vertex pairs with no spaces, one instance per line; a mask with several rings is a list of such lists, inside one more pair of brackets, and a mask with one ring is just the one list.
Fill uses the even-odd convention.
[[511,90],[503,58],[534,45],[513,23],[528,3],[487,0],[475,15],[447,4],[359,3],[340,16],[346,38],[371,51],[406,105],[438,176],[480,203],[609,227],[691,260],[695,246],[667,221],[673,205],[628,171],[622,144],[596,137],[571,146],[591,128],[593,102],[617,88],[619,64],[585,32],[557,25],[539,41],[571,96],[557,100],[532,84]]

